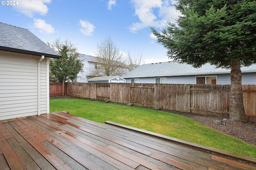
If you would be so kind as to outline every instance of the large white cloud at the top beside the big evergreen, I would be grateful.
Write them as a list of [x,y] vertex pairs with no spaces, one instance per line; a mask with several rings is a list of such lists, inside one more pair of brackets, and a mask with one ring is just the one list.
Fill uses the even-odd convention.
[[174,22],[179,15],[169,0],[132,0],[132,3],[135,15],[140,20],[130,27],[130,32],[133,33],[148,26],[160,28],[166,21]]

